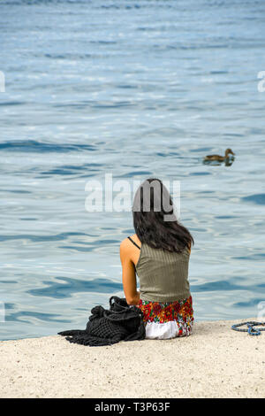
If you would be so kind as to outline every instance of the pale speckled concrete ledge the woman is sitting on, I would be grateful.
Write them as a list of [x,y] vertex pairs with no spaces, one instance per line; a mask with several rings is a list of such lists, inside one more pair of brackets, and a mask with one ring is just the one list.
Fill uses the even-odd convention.
[[107,347],[59,335],[4,341],[0,396],[264,397],[265,332],[231,330],[246,320],[198,322],[189,337]]

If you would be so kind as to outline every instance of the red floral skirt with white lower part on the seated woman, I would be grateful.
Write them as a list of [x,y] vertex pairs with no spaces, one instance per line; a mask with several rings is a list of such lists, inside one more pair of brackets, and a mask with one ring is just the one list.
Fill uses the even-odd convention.
[[148,339],[169,339],[192,334],[192,297],[165,304],[140,299],[137,307],[143,312]]

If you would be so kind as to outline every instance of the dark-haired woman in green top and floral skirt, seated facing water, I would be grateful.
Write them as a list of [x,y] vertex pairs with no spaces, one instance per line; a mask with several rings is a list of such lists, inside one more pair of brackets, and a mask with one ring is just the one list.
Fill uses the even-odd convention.
[[143,312],[146,338],[190,335],[193,300],[188,265],[193,237],[178,222],[162,181],[148,179],[140,185],[133,200],[133,226],[135,234],[120,245],[127,304]]

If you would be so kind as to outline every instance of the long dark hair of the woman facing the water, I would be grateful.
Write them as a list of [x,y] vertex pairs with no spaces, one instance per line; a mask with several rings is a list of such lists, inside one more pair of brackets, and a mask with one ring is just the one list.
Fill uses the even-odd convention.
[[170,193],[159,179],[147,179],[137,189],[133,199],[133,227],[140,242],[154,249],[179,253],[194,243],[187,228],[178,222]]

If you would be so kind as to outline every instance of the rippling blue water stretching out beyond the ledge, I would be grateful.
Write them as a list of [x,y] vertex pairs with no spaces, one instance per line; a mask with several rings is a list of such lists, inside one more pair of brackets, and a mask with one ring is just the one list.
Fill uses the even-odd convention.
[[[265,300],[265,3],[0,4],[1,339],[85,327],[122,295],[130,212],[85,210],[88,180],[181,181],[195,319]],[[204,155],[231,147],[230,167]]]

